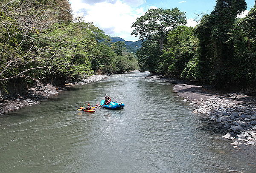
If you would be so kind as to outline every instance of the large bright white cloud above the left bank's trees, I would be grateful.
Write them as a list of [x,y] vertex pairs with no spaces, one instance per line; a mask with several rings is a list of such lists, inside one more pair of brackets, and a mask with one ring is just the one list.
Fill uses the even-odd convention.
[[127,41],[139,40],[139,37],[131,37],[131,26],[145,11],[142,7],[133,8],[128,4],[134,3],[137,6],[145,0],[138,0],[139,3],[135,0],[96,0],[96,3],[89,1],[70,0],[75,17],[84,16],[85,22],[93,23],[111,37],[118,36]]

